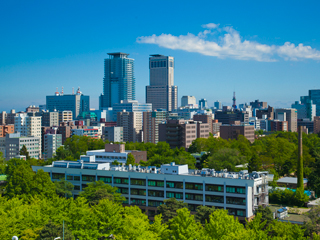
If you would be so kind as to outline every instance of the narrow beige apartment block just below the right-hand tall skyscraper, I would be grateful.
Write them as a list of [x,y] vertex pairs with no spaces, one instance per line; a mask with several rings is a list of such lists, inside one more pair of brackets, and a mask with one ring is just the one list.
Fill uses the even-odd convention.
[[166,120],[166,111],[143,113],[143,141],[157,144],[159,142],[159,124]]

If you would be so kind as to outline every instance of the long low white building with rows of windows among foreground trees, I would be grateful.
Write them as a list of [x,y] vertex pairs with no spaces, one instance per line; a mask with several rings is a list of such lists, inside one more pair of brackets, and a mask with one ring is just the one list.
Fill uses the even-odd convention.
[[126,198],[124,204],[139,206],[151,218],[168,198],[188,203],[191,211],[197,206],[226,209],[239,220],[253,218],[259,205],[269,203],[266,172],[189,170],[188,165],[174,163],[160,168],[112,166],[90,157],[78,162],[56,161],[52,165],[32,168],[33,171],[48,172],[52,181],[61,178],[70,181],[75,186],[74,195],[90,182],[103,181],[118,188]]

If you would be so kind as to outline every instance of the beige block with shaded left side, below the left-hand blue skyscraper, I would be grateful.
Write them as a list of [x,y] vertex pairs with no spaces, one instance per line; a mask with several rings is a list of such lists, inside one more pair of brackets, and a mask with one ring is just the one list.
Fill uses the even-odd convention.
[[142,141],[142,112],[118,112],[117,126],[123,127],[124,142]]

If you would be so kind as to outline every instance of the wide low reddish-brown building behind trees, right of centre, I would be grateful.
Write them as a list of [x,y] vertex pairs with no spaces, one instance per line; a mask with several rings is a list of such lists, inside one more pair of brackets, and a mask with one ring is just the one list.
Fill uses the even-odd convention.
[[249,124],[220,126],[220,137],[223,139],[237,139],[239,135],[245,136],[251,143],[254,142],[254,126]]

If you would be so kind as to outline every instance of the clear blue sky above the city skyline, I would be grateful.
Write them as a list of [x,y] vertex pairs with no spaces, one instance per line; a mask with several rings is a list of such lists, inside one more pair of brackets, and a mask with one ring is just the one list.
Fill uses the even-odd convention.
[[[318,1],[1,1],[0,111],[45,103],[56,87],[98,108],[103,59],[135,59],[145,101],[149,54],[175,57],[179,98],[288,107],[320,88]],[[299,45],[300,44],[300,45]]]

